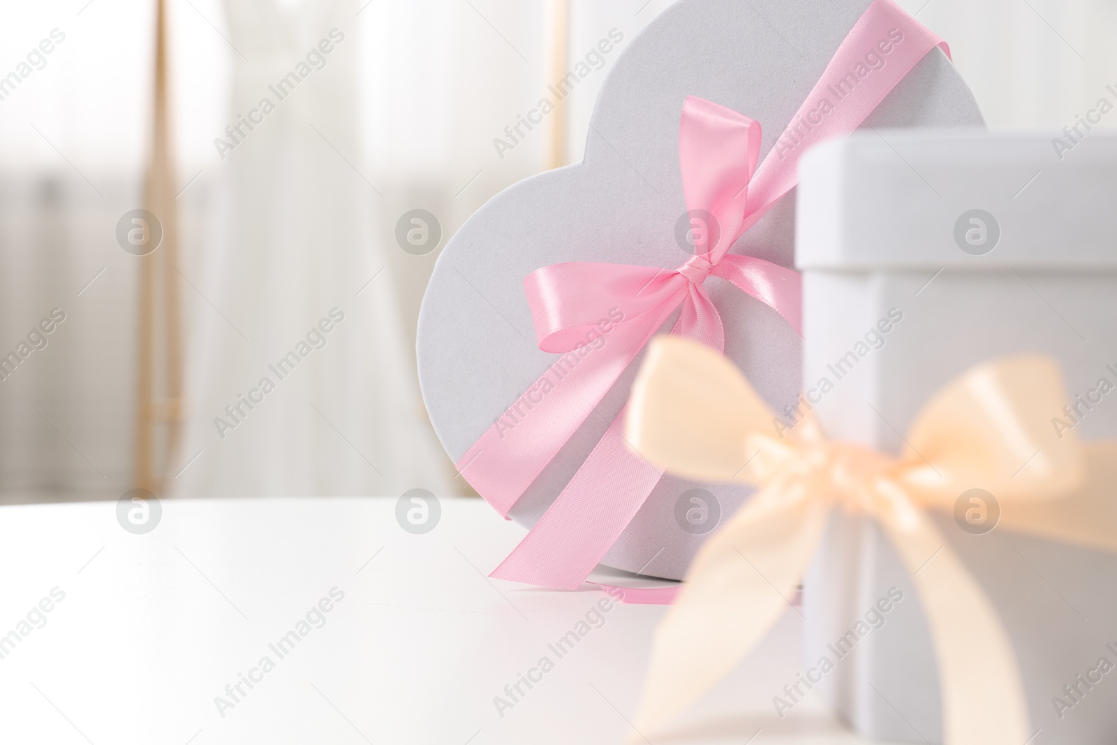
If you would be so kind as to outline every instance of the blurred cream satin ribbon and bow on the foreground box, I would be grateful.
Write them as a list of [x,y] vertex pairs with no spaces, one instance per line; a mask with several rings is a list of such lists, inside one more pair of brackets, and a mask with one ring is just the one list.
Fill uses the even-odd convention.
[[952,512],[980,487],[996,497],[1005,529],[1117,551],[1102,489],[1117,483],[1117,458],[1109,443],[1058,439],[1051,417],[1069,400],[1065,390],[1043,356],[973,367],[923,408],[895,458],[828,441],[809,414],[781,438],[773,412],[723,356],[658,337],[633,386],[629,443],[677,476],[758,489],[699,551],[657,629],[637,728],[660,729],[763,639],[840,506],[876,519],[913,574],[947,745],[1027,742],[1033,733],[1004,627],[925,509]]

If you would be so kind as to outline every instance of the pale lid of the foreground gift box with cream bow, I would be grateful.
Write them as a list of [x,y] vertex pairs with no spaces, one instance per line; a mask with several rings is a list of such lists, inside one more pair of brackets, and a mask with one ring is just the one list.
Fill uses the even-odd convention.
[[[876,130],[800,163],[800,269],[1117,268],[1117,135]],[[1069,136],[1068,136],[1069,135]]]

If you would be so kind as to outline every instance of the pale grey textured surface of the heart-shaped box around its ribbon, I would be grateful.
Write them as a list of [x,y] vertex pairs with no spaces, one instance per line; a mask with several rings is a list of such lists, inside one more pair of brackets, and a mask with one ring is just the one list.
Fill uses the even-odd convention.
[[[757,120],[761,155],[821,76],[869,0],[682,0],[626,37],[591,120],[583,163],[527,179],[478,210],[443,249],[419,318],[418,362],[435,429],[457,460],[548,366],[536,346],[523,279],[562,261],[675,268],[685,212],[679,113],[687,95]],[[622,29],[623,30],[623,29]],[[541,85],[541,89],[543,85]],[[873,126],[981,125],[951,63],[933,50],[870,115]],[[732,249],[792,266],[794,192]],[[725,323],[726,354],[770,404],[796,399],[800,338],[757,300],[706,284]],[[674,323],[674,318],[669,321]],[[640,357],[510,513],[533,525],[623,405]],[[665,478],[603,563],[679,579],[704,539],[679,528],[675,503],[697,485]],[[705,486],[728,515],[747,491]],[[494,516],[494,519],[497,519]]]

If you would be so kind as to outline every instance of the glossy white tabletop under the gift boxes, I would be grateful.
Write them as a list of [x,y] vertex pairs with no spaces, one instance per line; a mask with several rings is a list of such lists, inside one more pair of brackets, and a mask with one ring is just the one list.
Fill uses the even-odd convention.
[[[523,529],[479,499],[442,499],[424,535],[397,524],[394,498],[161,504],[144,535],[121,527],[115,503],[0,507],[0,634],[26,634],[0,659],[0,743],[566,745],[631,732],[663,609],[617,605],[557,659],[548,643],[605,595],[488,580]],[[279,658],[269,643],[331,590],[344,598]],[[44,598],[50,611],[34,611]],[[651,741],[865,742],[817,699],[775,716],[772,697],[802,669],[800,623],[789,609]],[[219,711],[214,697],[231,703],[226,686],[264,657],[274,669]],[[494,697],[542,657],[554,669],[500,716]]]

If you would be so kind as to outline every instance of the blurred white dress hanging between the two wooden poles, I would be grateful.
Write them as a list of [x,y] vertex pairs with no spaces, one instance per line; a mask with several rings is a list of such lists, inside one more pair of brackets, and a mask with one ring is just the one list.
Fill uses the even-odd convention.
[[359,166],[357,6],[226,9],[229,121],[256,124],[221,145],[216,229],[192,280],[185,470],[173,494],[445,494],[386,247],[369,237],[382,197]]

